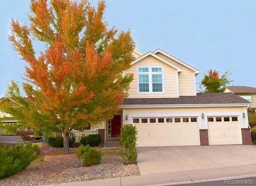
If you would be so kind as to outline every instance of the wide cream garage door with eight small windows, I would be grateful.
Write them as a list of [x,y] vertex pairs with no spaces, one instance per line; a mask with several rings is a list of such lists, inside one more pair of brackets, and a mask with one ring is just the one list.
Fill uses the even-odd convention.
[[137,146],[200,145],[197,117],[132,118]]

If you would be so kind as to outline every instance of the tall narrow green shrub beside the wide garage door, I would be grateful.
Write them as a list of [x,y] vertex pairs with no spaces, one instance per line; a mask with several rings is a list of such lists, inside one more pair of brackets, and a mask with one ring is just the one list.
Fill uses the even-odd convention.
[[119,151],[119,154],[123,157],[125,164],[137,164],[137,134],[136,126],[124,125],[121,129],[120,141],[124,148]]

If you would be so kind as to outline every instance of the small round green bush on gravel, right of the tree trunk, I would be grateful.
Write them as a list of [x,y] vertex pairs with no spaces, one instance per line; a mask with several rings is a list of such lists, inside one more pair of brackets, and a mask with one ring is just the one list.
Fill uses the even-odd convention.
[[92,166],[100,163],[102,154],[89,145],[80,145],[77,150],[77,156],[82,160],[82,166]]

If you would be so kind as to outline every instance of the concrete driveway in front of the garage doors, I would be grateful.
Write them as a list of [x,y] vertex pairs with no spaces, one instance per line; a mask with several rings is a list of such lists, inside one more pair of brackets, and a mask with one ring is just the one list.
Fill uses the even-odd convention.
[[138,147],[140,174],[256,164],[254,145]]

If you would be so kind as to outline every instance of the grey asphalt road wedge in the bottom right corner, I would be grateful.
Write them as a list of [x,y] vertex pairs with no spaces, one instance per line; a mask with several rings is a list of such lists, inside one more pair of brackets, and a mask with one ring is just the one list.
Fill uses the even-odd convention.
[[[243,181],[246,181],[242,183]],[[250,178],[239,178],[239,179],[232,179],[232,180],[219,180],[219,181],[212,181],[212,182],[200,182],[200,183],[192,183],[192,184],[178,184],[176,186],[256,186],[256,177]],[[174,186],[174,185],[170,185]]]

